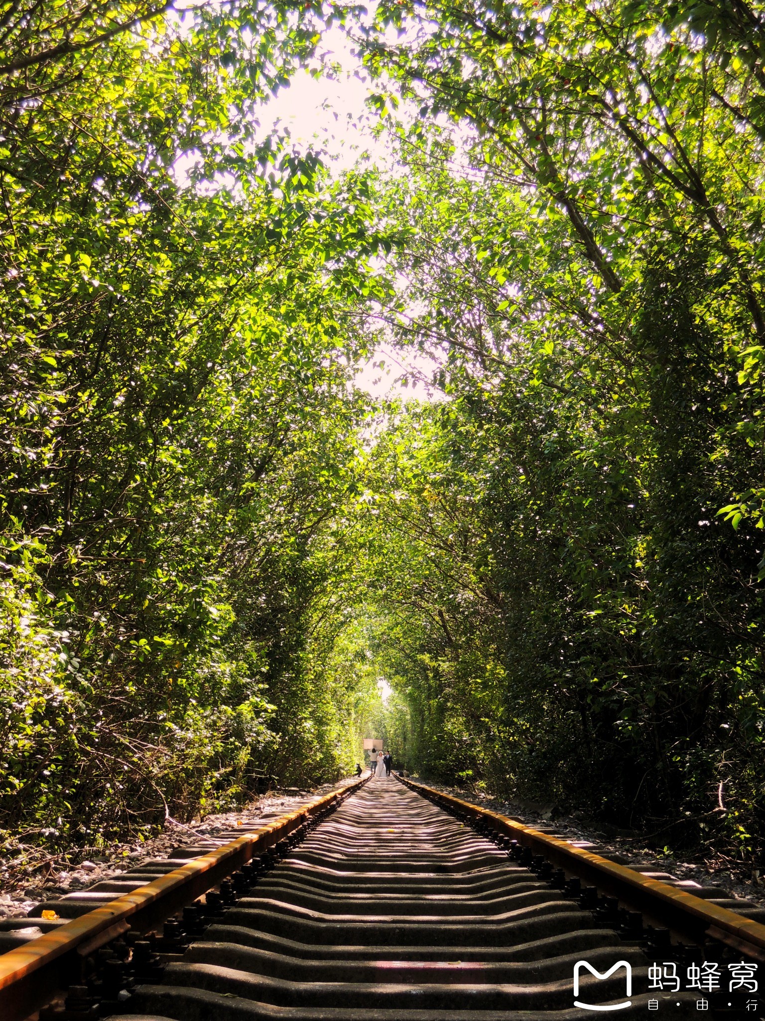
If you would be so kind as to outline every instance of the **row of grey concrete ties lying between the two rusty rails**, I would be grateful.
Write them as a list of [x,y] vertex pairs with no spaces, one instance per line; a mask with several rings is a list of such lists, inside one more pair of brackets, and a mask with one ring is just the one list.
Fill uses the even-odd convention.
[[[112,1021],[655,1016],[640,945],[393,778],[348,798],[253,892]],[[575,1008],[582,958],[601,973],[629,962],[632,1006]],[[623,1001],[624,970],[605,980],[584,971],[579,1000]],[[673,1018],[697,1016],[696,996],[671,1000]]]

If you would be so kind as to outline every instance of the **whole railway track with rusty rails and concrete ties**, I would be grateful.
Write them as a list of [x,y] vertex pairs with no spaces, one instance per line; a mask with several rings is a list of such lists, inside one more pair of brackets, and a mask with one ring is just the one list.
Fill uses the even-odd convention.
[[120,878],[148,884],[95,911],[38,906],[80,917],[0,956],[0,1017],[52,1000],[40,1021],[765,1014],[760,909],[581,843],[411,781],[360,781],[185,848],[207,852],[188,865],[147,863]]

